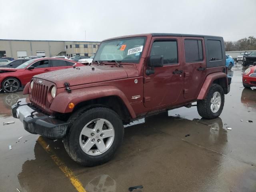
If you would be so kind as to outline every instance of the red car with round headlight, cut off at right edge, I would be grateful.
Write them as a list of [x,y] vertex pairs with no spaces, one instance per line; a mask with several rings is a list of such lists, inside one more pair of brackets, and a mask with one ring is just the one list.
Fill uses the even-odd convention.
[[243,85],[245,88],[256,87],[256,66],[249,67],[244,71]]

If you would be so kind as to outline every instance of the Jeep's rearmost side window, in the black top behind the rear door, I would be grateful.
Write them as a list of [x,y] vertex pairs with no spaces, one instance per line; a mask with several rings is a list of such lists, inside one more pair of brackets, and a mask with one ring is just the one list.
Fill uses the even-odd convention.
[[219,40],[207,40],[209,61],[222,60],[222,49]]

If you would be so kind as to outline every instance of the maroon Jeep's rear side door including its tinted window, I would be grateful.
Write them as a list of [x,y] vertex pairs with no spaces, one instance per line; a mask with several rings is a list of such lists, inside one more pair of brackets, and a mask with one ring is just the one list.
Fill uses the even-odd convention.
[[185,64],[184,98],[194,99],[198,96],[206,76],[206,57],[204,38],[182,37]]

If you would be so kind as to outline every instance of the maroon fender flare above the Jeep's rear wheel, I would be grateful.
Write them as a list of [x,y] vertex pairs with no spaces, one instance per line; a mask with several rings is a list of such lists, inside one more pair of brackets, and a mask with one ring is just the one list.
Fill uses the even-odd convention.
[[212,85],[212,82],[219,78],[226,78],[225,86],[226,87],[228,86],[228,78],[226,73],[223,73],[223,72],[211,73],[205,78],[197,99],[198,100],[204,99],[208,93],[208,90],[210,89],[210,86]]

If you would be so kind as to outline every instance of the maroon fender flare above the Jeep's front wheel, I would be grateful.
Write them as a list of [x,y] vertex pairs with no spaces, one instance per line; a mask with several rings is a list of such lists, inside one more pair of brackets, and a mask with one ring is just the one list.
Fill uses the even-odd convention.
[[68,104],[70,102],[74,103],[75,106],[80,102],[102,98],[106,96],[118,96],[127,107],[132,118],[136,118],[136,114],[125,96],[125,94],[115,86],[96,86],[89,88],[82,88],[77,90],[72,90],[71,93],[61,92],[57,94],[56,98],[54,98],[50,110],[54,112],[60,113],[70,113],[73,109],[68,108]]

